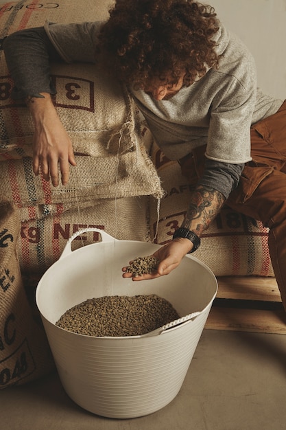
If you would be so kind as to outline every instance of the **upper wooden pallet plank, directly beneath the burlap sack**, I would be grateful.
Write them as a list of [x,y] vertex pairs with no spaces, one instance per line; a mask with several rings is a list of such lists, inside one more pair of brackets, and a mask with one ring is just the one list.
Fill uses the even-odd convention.
[[276,279],[272,277],[222,276],[217,282],[218,298],[281,302]]

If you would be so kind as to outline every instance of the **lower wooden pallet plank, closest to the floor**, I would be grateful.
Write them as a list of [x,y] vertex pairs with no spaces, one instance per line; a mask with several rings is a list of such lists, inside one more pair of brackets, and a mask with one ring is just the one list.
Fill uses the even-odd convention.
[[286,313],[284,310],[219,308],[213,306],[208,315],[205,328],[286,335]]

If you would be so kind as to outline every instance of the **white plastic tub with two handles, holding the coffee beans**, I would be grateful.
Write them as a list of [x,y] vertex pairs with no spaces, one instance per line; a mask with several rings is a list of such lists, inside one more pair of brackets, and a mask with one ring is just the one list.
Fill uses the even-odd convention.
[[[71,251],[71,242],[98,231],[101,242]],[[165,407],[178,394],[198,345],[217,280],[193,256],[155,280],[133,282],[121,268],[160,245],[117,240],[100,229],[78,231],[62,256],[43,275],[36,303],[58,374],[67,394],[84,409],[109,418],[136,418]],[[90,337],[68,332],[56,321],[88,298],[156,294],[176,308],[180,319],[135,337]]]

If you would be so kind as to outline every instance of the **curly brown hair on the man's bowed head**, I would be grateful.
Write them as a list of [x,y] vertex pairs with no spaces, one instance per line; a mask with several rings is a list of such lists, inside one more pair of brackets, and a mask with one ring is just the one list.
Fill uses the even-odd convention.
[[[184,86],[217,67],[211,6],[195,0],[117,0],[99,34],[99,52],[122,82],[144,88],[154,79]],[[171,77],[171,79],[170,79]]]

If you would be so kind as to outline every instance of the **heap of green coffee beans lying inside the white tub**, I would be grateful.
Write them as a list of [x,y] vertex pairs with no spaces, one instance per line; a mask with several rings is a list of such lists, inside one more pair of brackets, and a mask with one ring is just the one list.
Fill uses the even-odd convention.
[[122,337],[145,335],[178,318],[174,307],[158,295],[111,295],[73,306],[56,325],[80,335]]

